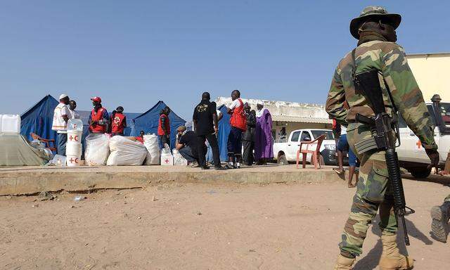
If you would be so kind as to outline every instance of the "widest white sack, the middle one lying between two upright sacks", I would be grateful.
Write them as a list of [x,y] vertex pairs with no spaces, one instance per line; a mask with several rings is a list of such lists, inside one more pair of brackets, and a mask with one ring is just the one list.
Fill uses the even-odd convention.
[[147,149],[139,141],[131,141],[123,136],[110,139],[108,166],[138,166],[146,159]]

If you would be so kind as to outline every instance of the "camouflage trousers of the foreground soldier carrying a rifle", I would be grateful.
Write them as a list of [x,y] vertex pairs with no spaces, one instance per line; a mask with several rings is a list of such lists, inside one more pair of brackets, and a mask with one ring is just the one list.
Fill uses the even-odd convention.
[[366,125],[351,123],[347,128],[349,147],[359,161],[359,181],[353,197],[352,209],[342,233],[340,252],[345,257],[361,255],[364,239],[372,219],[380,212],[380,229],[384,236],[397,233],[397,217],[394,213],[394,200],[388,181],[385,152],[368,150],[357,153],[354,144],[371,137]]

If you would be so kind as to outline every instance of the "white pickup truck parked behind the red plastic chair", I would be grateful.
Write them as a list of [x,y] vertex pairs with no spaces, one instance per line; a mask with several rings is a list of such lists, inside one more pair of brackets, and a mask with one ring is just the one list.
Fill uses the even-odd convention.
[[[297,150],[300,148],[300,141],[314,141],[322,134],[326,134],[326,139],[323,140],[320,148],[321,162],[325,165],[335,165],[336,143],[333,131],[330,129],[297,129],[292,131],[287,139],[274,143],[274,159],[281,165],[295,162],[297,160]],[[311,160],[310,154],[307,155],[307,160]]]

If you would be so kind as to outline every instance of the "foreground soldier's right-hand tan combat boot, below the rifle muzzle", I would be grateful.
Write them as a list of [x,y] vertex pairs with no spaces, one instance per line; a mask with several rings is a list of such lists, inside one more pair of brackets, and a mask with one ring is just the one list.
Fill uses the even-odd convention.
[[394,236],[381,236],[383,242],[383,253],[380,258],[381,270],[409,270],[413,269],[413,259],[404,257],[397,248],[397,238]]

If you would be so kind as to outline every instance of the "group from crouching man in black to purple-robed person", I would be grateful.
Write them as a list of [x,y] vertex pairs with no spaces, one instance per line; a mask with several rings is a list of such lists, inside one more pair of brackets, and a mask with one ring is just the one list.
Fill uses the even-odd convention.
[[214,169],[239,169],[243,164],[251,166],[254,162],[266,165],[273,158],[272,120],[264,103],[258,103],[257,113],[251,110],[248,103],[243,103],[238,90],[231,92],[231,100],[233,102],[226,108],[230,115],[231,130],[227,138],[229,160],[225,167],[221,167],[217,143],[222,113],[217,110],[217,104],[210,101],[208,92],[203,93],[200,103],[195,106],[195,131],[186,131],[186,127],[177,130],[176,149],[188,160],[189,165],[209,169],[205,159],[208,149],[212,152]]

